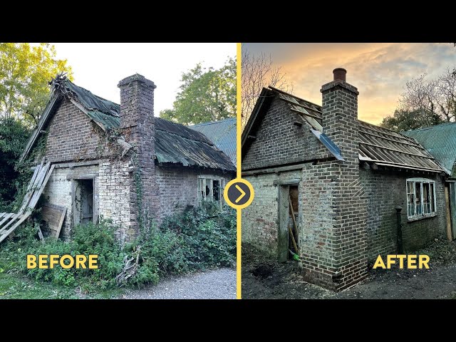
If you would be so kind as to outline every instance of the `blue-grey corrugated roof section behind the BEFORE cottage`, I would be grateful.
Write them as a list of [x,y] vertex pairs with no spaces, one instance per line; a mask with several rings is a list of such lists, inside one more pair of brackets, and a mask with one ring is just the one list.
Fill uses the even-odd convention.
[[236,118],[199,123],[188,127],[204,134],[236,165]]

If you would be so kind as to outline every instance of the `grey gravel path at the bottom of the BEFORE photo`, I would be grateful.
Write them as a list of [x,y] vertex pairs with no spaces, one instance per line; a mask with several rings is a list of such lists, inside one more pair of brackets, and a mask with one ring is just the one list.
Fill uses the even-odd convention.
[[168,278],[145,289],[128,289],[121,299],[236,299],[236,270]]

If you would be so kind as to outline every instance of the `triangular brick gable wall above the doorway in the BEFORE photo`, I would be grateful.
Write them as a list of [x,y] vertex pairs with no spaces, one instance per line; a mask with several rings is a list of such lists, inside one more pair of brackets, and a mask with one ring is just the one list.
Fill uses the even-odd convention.
[[51,162],[90,160],[110,153],[101,150],[101,128],[66,98],[47,127],[46,157]]

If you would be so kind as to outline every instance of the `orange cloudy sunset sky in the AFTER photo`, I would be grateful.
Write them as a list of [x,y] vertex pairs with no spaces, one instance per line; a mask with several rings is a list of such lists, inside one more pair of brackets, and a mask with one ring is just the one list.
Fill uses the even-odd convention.
[[293,83],[296,96],[321,105],[320,89],[333,80],[334,68],[346,68],[356,86],[358,118],[381,123],[393,115],[405,83],[427,73],[437,78],[456,67],[453,43],[244,43],[256,55],[271,54]]

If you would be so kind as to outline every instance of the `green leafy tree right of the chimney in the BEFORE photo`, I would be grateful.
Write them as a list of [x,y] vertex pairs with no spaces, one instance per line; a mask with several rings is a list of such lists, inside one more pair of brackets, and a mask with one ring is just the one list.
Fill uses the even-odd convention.
[[182,85],[172,109],[160,118],[191,125],[236,116],[236,61],[228,58],[222,68],[203,68],[198,63],[182,73]]

